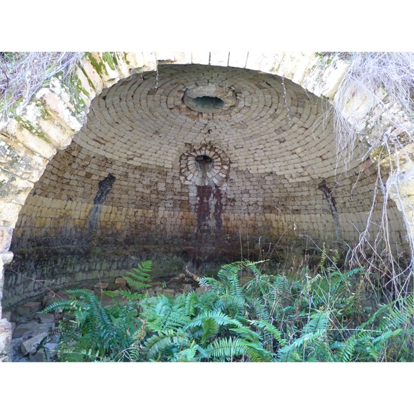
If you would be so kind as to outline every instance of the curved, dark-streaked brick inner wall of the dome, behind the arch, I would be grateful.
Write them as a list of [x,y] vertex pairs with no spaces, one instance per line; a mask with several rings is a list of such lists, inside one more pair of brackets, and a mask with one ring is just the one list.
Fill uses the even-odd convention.
[[[204,110],[189,108],[186,90],[210,84],[235,104],[201,97]],[[282,259],[355,244],[377,167],[361,146],[344,169],[328,105],[287,79],[214,66],[162,66],[103,90],[21,209],[3,306],[45,285],[110,280],[141,259],[168,275],[240,259],[241,248]],[[400,243],[400,214],[388,216]]]

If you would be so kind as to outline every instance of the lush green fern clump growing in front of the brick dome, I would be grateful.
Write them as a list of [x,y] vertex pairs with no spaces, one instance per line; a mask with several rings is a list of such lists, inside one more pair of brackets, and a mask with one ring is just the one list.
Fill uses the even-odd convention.
[[413,361],[413,295],[374,310],[364,303],[362,269],[341,271],[322,257],[319,273],[305,268],[288,277],[266,275],[261,265],[226,264],[217,278],[198,278],[208,289],[201,295],[148,297],[150,261],[126,277],[130,290],[110,293],[122,299],[113,306],[103,307],[88,290],[68,290],[68,299],[43,310],[63,313],[57,359]]

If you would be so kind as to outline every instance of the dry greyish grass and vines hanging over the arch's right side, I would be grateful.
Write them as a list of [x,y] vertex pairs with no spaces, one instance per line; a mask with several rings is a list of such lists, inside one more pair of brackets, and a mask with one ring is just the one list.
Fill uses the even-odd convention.
[[[413,206],[401,185],[406,166],[412,161],[405,147],[414,142],[414,53],[355,52],[346,54],[345,59],[350,67],[339,86],[333,107],[338,155],[348,164],[355,144],[364,139],[367,132],[370,132],[370,148],[366,156],[375,150],[382,151],[382,168],[378,166],[371,210],[359,243],[353,248],[352,262],[354,265],[364,264],[364,267],[368,264],[373,274],[387,275],[385,287],[396,296],[404,296],[412,288],[414,268],[414,234],[410,219]],[[377,117],[373,114],[365,130],[356,130],[348,121],[349,113],[344,110],[357,94],[372,100],[377,115],[380,113]],[[396,201],[402,207],[411,248],[404,259],[397,257],[390,239],[387,213],[391,196],[391,202]],[[380,223],[373,220],[377,205],[382,206]]]

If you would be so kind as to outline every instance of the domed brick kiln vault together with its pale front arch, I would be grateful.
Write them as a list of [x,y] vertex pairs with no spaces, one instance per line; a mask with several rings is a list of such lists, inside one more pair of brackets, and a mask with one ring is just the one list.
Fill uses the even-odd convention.
[[[28,275],[59,288],[112,278],[148,254],[235,259],[240,238],[255,253],[259,242],[357,242],[377,168],[362,144],[346,173],[337,162],[325,114],[344,63],[168,56],[119,55],[114,68],[92,54],[79,70],[84,110],[52,83],[26,110],[29,127],[21,117],[3,128],[18,188],[0,200],[3,262],[10,242],[15,255],[3,306],[44,290]],[[399,243],[397,208],[388,217]]]

